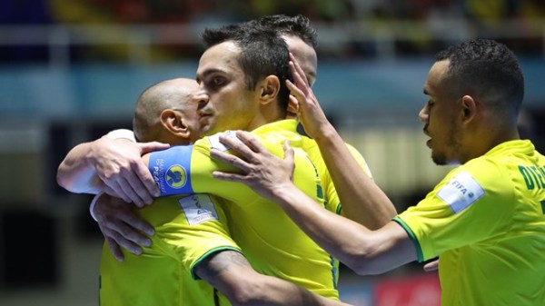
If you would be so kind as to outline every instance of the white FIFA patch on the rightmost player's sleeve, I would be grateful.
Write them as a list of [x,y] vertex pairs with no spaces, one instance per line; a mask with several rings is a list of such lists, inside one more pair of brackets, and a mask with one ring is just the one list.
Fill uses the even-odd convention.
[[458,213],[469,207],[484,195],[481,185],[470,173],[458,173],[437,192],[437,197],[447,203],[452,212]]

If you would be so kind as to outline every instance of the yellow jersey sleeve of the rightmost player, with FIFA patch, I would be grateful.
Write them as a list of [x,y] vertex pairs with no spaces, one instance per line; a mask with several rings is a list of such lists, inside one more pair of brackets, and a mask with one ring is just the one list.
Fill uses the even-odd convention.
[[[490,160],[454,169],[397,221],[415,240],[419,261],[481,242],[509,226],[514,186]],[[482,222],[478,222],[482,221]]]

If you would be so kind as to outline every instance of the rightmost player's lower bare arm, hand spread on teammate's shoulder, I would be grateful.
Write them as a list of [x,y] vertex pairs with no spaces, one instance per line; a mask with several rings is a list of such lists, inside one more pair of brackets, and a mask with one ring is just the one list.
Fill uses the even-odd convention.
[[282,160],[269,153],[250,133],[237,132],[237,136],[242,143],[227,137],[221,137],[221,141],[241,153],[242,158],[216,150],[212,156],[240,168],[243,174],[216,172],[214,177],[246,183],[278,203],[314,242],[357,273],[389,271],[417,259],[411,238],[398,223],[388,222],[371,231],[323,209],[299,190],[292,183],[293,151],[288,143]]

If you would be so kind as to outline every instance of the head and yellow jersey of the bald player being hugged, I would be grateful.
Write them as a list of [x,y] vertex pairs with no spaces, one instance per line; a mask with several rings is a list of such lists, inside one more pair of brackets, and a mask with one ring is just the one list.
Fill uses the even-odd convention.
[[[137,136],[143,141],[193,142],[199,128],[195,118],[197,104],[192,100],[197,87],[195,81],[182,78],[150,86],[138,98],[134,134],[115,133],[133,141]],[[105,194],[95,197],[94,201],[131,209],[126,202]],[[212,252],[240,252],[230,237],[227,220],[217,202],[206,194],[170,196],[134,209],[154,226],[152,247],[144,248],[140,256],[128,253],[124,262],[118,262],[104,242],[100,260],[100,304],[229,305],[223,294],[208,282],[194,281],[190,269]]]

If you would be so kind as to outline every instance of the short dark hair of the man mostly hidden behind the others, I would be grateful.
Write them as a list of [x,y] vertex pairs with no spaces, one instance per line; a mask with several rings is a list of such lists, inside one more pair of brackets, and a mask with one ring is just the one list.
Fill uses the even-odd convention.
[[317,32],[311,26],[309,18],[303,15],[268,15],[248,22],[248,25],[261,25],[278,31],[281,35],[293,35],[316,49],[318,45]]

